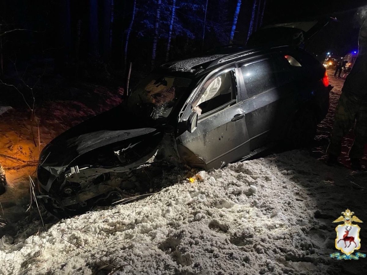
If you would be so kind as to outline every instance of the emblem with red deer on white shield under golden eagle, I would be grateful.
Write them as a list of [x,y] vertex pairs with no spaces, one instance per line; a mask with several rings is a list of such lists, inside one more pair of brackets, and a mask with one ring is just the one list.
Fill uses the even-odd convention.
[[335,239],[335,248],[340,250],[340,252],[336,252],[330,254],[330,257],[335,257],[338,260],[345,259],[355,259],[358,260],[359,257],[366,257],[366,254],[357,252],[355,255],[352,253],[354,250],[358,250],[361,248],[361,239],[359,238],[359,231],[361,228],[356,223],[363,223],[357,216],[353,216],[354,212],[351,212],[349,209],[342,212],[343,216],[338,217],[333,223],[344,222],[344,224],[339,224],[335,227],[335,231],[337,231],[337,238]]

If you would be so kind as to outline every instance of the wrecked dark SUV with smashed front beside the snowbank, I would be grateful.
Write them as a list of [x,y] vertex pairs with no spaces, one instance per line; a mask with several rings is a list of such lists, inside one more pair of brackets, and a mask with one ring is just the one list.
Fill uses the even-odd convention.
[[219,168],[279,141],[306,144],[327,113],[329,91],[324,67],[299,47],[228,47],[166,63],[125,103],[44,148],[38,198],[70,216],[182,163]]

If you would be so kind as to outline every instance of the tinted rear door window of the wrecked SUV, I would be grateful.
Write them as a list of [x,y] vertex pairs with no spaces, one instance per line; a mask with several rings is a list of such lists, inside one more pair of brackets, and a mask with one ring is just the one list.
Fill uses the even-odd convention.
[[273,64],[264,60],[241,67],[248,98],[276,86]]

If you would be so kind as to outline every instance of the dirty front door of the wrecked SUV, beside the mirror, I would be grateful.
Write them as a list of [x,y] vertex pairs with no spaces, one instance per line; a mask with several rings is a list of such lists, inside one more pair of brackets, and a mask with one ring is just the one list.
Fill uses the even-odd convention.
[[237,102],[235,65],[206,77],[192,97],[183,122],[197,112],[197,128],[179,136],[178,151],[190,166],[219,168],[249,153],[246,120]]

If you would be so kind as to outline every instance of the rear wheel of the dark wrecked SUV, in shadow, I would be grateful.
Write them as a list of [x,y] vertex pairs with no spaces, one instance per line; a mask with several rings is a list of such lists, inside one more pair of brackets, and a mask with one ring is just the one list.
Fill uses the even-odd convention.
[[316,135],[317,119],[314,111],[305,108],[295,114],[286,137],[290,149],[309,146]]

